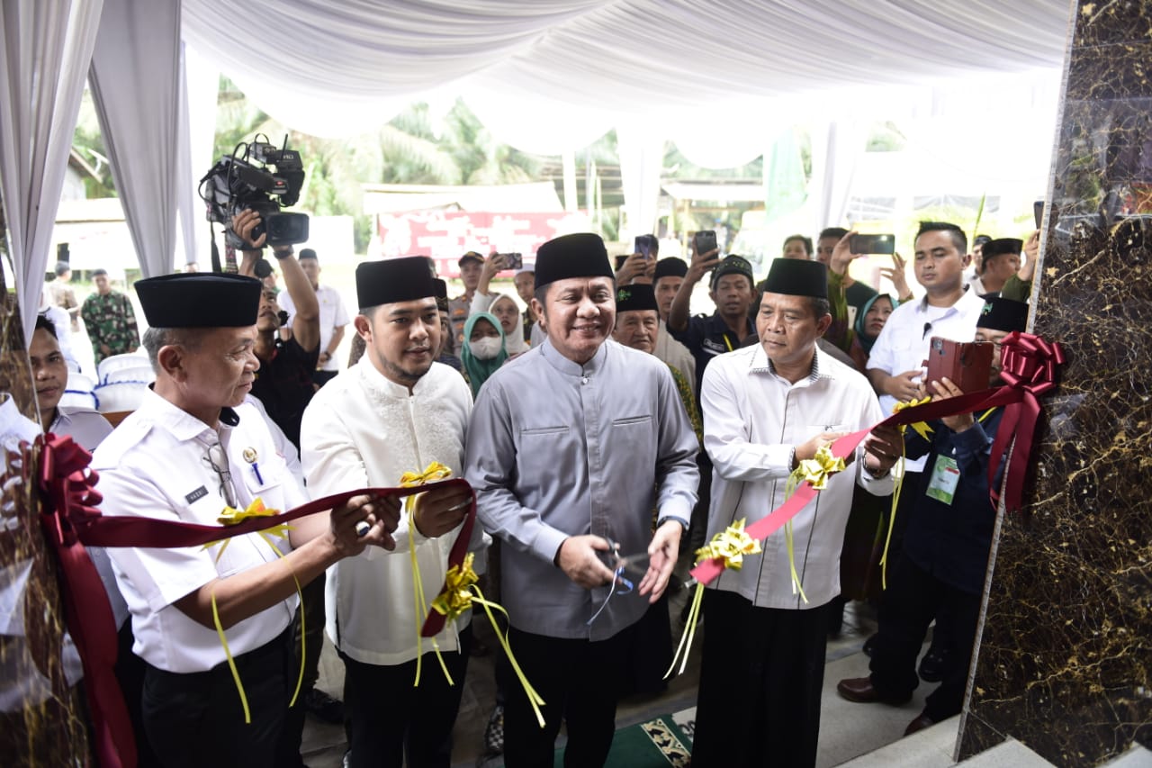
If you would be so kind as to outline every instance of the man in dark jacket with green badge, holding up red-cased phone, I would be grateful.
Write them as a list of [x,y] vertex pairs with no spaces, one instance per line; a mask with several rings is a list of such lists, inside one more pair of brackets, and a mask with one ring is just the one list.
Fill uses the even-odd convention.
[[[1000,342],[1010,332],[1023,331],[1026,321],[1028,304],[1022,302],[993,298],[984,304],[976,341],[992,346],[988,386],[1001,383]],[[964,394],[947,378],[926,384],[920,384],[920,394],[931,393],[933,400]],[[993,408],[948,416],[930,424],[931,442],[911,430],[905,436],[909,455],[927,454],[932,470],[918,485],[905,487],[915,511],[880,603],[872,673],[836,685],[849,701],[908,701],[919,684],[916,657],[929,624],[937,619],[933,647],[941,642],[956,658],[905,736],[960,714],[996,518],[988,502],[988,462],[999,460],[990,452],[1002,415],[1003,408]]]

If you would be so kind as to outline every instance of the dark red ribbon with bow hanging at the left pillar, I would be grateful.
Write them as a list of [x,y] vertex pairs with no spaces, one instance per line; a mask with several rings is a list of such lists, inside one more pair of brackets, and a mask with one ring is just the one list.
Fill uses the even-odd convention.
[[[314,499],[280,514],[249,518],[232,526],[205,526],[153,518],[104,517],[96,509],[101,498],[96,490],[98,475],[88,468],[92,454],[67,436],[58,437],[48,434],[38,437],[37,443],[43,444],[39,479],[40,488],[45,491],[40,520],[48,542],[60,558],[63,572],[68,631],[84,665],[86,680],[84,687],[91,709],[96,754],[101,768],[134,768],[136,743],[114,673],[118,643],[112,605],[108,603],[96,566],[84,550],[85,544],[160,549],[197,547],[325,512],[347,503],[354,496],[403,498],[423,494],[431,487],[429,484],[344,491]],[[444,480],[435,484],[460,485],[467,488],[471,495],[464,527],[450,554],[450,558],[456,557],[457,550],[461,550],[458,559],[463,562],[476,520],[476,494],[462,479]],[[432,613],[440,617],[442,627],[444,617],[435,611]],[[429,618],[425,628],[432,622],[433,619]]]

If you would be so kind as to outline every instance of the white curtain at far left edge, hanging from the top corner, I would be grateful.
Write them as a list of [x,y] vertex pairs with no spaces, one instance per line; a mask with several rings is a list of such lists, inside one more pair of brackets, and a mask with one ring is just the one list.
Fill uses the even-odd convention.
[[31,337],[101,0],[0,0],[0,191]]

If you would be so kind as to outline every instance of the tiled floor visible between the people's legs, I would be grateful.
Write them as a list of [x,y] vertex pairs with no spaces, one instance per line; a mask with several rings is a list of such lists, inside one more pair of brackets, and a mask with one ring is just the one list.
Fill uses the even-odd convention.
[[[670,613],[674,637],[679,640],[681,625],[676,620],[688,593],[674,596]],[[491,630],[480,622],[473,623],[478,637],[493,649],[495,641]],[[861,653],[864,640],[874,632],[876,620],[867,607],[849,603],[844,611],[844,627],[841,635],[828,642],[827,668],[820,721],[820,768],[836,766],[861,754],[865,754],[901,737],[904,728],[924,706],[924,695],[931,690],[922,685],[912,701],[903,707],[884,705],[857,705],[841,699],[835,692],[836,682],[844,677],[867,675],[867,657]],[[637,697],[621,702],[616,722],[624,726],[643,722],[654,715],[684,713],[696,706],[696,685],[699,677],[700,633],[697,633],[688,669],[668,685],[658,697]],[[325,647],[320,661],[320,687],[339,695],[343,679],[343,665],[329,646]],[[468,667],[468,679],[460,715],[454,732],[455,748],[453,763],[457,768],[490,768],[500,761],[485,760],[483,755],[484,728],[492,710],[494,693],[493,655],[473,657]],[[677,720],[690,718],[691,711]],[[939,728],[943,728],[941,724]],[[343,728],[327,725],[309,717],[304,730],[303,755],[311,768],[339,768],[344,753]]]

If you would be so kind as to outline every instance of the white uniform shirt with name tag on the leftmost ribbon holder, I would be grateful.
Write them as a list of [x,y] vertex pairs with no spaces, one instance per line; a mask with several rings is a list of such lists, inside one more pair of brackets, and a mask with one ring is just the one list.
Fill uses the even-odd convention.
[[[235,419],[229,419],[233,414]],[[235,423],[229,426],[229,420]],[[220,476],[205,461],[206,444],[215,439],[217,432],[207,424],[149,391],[141,407],[92,457],[92,468],[100,474],[104,514],[218,525],[226,500]],[[243,404],[235,412],[226,408],[219,441],[228,457],[238,506],[248,506],[257,497],[280,511],[305,502],[253,406]],[[256,462],[245,461],[245,454],[256,457]],[[173,603],[213,579],[278,558],[260,534],[229,541],[222,551],[220,544],[207,549],[109,548],[120,592],[132,616],[136,655],[169,672],[202,672],[225,662],[217,631]],[[272,541],[280,551],[291,548],[287,539]],[[293,595],[229,627],[226,635],[233,656],[275,639],[291,622],[296,603]]]

